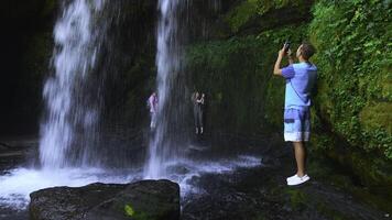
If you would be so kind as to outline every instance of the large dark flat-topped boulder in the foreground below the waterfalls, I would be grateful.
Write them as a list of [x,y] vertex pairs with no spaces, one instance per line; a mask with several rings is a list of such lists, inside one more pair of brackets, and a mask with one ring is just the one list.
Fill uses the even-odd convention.
[[179,186],[170,180],[55,187],[30,197],[31,220],[179,219]]

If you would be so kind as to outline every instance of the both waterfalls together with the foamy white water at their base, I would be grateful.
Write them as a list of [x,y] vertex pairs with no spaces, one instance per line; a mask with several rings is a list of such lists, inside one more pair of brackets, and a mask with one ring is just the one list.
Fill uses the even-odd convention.
[[[199,4],[211,2],[214,8],[217,1],[219,0],[197,2]],[[4,175],[0,175],[0,209],[7,207],[11,210],[26,210],[29,195],[47,187],[78,187],[97,182],[126,184],[142,178],[164,177],[174,180],[179,184],[184,196],[189,191],[198,190],[190,182],[195,176],[230,172],[237,167],[259,164],[260,158],[243,155],[226,160],[220,152],[219,157],[214,160],[200,157],[193,161],[184,156],[194,150],[185,147],[189,138],[184,130],[186,131],[186,121],[189,119],[186,112],[189,110],[187,105],[190,96],[182,59],[189,26],[187,22],[190,21],[187,15],[190,14],[190,10],[194,10],[189,2],[194,3],[196,0],[160,0],[156,54],[160,103],[157,127],[150,141],[149,161],[144,169],[128,165],[115,166],[116,168],[110,169],[106,168],[107,166],[97,167],[98,164],[105,164],[107,161],[132,160],[130,155],[133,151],[123,153],[119,151],[117,142],[105,142],[107,140],[102,138],[105,130],[101,127],[111,125],[110,119],[102,117],[105,108],[116,108],[112,105],[107,107],[107,100],[102,95],[107,96],[105,91],[108,91],[104,82],[110,81],[107,73],[110,73],[110,79],[116,79],[118,75],[112,66],[122,63],[113,62],[119,58],[116,56],[118,48],[116,46],[123,47],[123,44],[117,45],[113,42],[123,40],[121,22],[127,22],[121,20],[119,9],[127,9],[128,7],[124,6],[133,6],[138,2],[139,6],[143,6],[143,0],[116,2],[67,0],[64,2],[66,3],[63,4],[63,14],[54,30],[56,44],[52,62],[54,73],[44,87],[46,114],[41,127],[40,142],[43,169],[15,165],[4,172]],[[133,11],[130,13],[133,15]],[[138,20],[135,24],[139,23]],[[132,34],[127,36],[124,42],[133,41]],[[141,38],[144,41],[143,37]],[[137,47],[135,51],[139,53],[140,50]],[[128,63],[130,59],[124,61]],[[112,99],[111,96],[109,98]],[[102,99],[106,100],[104,107]],[[105,143],[101,144],[102,142]],[[210,154],[208,148],[197,151],[203,151],[200,154],[203,156]]]

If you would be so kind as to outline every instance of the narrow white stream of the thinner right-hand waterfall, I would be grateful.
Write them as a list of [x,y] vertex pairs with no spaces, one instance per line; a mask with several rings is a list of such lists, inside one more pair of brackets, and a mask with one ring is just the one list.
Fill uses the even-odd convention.
[[[167,140],[170,135],[170,120],[172,111],[178,109],[170,108],[170,99],[173,99],[173,82],[178,77],[181,69],[181,48],[178,38],[177,11],[182,0],[160,0],[159,1],[159,26],[157,26],[157,123],[154,134],[150,141],[149,160],[145,167],[146,178],[160,178],[165,174],[163,164],[173,158],[176,152],[171,152]],[[177,91],[175,91],[177,92]]]

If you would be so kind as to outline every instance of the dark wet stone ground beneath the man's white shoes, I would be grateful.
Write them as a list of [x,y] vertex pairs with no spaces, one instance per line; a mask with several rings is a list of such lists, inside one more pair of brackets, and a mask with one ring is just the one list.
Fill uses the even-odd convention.
[[388,215],[347,190],[317,179],[286,186],[285,178],[292,175],[290,152],[277,161],[265,161],[271,164],[195,177],[194,185],[202,190],[184,198],[183,219],[377,220]]

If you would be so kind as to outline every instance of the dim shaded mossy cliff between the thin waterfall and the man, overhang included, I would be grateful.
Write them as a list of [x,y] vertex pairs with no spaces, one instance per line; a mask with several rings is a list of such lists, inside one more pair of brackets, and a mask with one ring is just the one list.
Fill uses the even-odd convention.
[[313,1],[243,0],[217,22],[217,37],[192,44],[187,70],[208,96],[207,127],[255,134],[282,128],[284,81],[272,77],[285,40],[307,37]]

